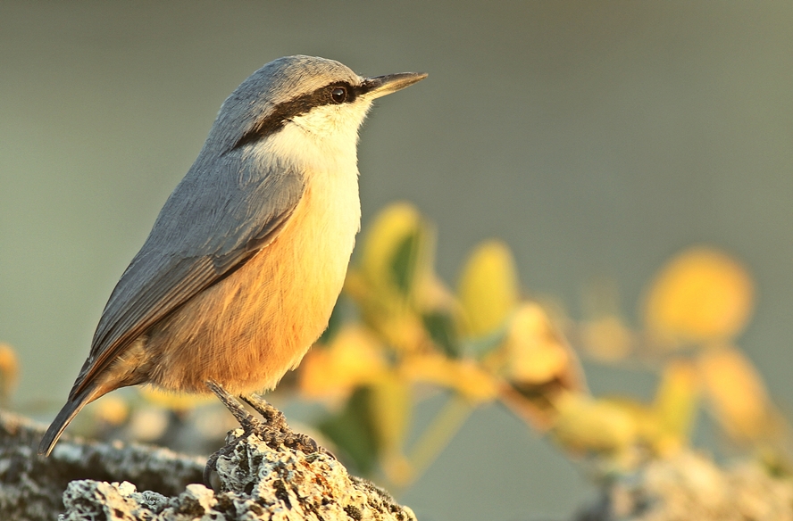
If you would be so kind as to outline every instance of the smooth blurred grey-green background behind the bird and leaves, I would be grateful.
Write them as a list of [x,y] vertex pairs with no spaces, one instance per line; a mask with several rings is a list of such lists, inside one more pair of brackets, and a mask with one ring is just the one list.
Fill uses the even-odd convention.
[[[62,405],[113,285],[225,97],[265,62],[316,54],[363,75],[430,73],[364,124],[364,228],[408,201],[434,223],[449,285],[496,236],[525,295],[582,318],[582,294],[606,281],[628,321],[674,253],[718,247],[754,278],[738,342],[789,412],[791,26],[782,1],[4,0],[0,342],[21,364],[12,408],[48,421]],[[595,394],[654,393],[647,371],[585,368]],[[491,404],[399,500],[422,519],[543,519],[593,491]]]

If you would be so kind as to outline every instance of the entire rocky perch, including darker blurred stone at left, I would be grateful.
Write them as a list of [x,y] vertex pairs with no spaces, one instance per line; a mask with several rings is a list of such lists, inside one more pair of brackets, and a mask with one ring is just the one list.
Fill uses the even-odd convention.
[[[397,505],[370,482],[348,475],[332,456],[283,446],[273,450],[255,434],[238,438],[218,458],[216,492],[198,484],[203,459],[138,445],[68,439],[43,459],[35,450],[38,426],[3,413],[0,431],[4,520],[54,519],[58,512],[63,512],[58,517],[63,521],[415,520],[411,509]],[[238,429],[230,439],[240,434]],[[138,487],[154,490],[138,492]]]

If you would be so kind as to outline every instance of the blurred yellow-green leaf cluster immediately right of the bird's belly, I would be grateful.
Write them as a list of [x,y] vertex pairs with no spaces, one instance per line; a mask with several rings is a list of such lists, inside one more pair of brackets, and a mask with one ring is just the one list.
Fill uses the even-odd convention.
[[[556,397],[585,388],[561,332],[521,298],[506,244],[480,244],[456,293],[435,274],[432,227],[409,204],[382,211],[361,247],[345,285],[359,320],[326,335],[298,369],[305,398],[336,411],[322,432],[359,468],[377,463],[391,484],[407,484],[477,406],[503,401],[547,429]],[[414,390],[427,386],[450,393],[447,407],[405,447]]]

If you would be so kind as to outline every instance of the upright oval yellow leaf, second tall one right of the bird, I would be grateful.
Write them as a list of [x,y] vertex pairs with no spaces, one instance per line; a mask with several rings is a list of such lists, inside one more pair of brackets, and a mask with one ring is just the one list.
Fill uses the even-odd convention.
[[519,286],[513,255],[505,243],[492,240],[477,246],[457,290],[468,333],[487,335],[503,327],[518,303]]

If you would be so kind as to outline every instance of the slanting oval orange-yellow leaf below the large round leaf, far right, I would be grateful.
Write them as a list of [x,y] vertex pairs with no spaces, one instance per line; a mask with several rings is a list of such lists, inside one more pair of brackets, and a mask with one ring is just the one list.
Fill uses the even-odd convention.
[[719,422],[738,440],[773,434],[771,402],[762,377],[740,351],[709,349],[699,358],[703,384]]

